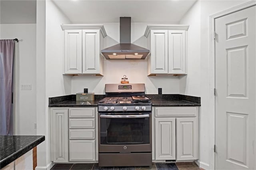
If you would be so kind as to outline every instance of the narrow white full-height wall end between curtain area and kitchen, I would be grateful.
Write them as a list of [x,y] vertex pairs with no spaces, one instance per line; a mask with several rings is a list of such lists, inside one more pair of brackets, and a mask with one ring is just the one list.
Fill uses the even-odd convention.
[[45,135],[45,141],[37,146],[36,170],[46,169],[46,154],[49,136],[46,128],[46,83],[45,83],[45,9],[46,0],[36,0],[36,122],[37,135]]

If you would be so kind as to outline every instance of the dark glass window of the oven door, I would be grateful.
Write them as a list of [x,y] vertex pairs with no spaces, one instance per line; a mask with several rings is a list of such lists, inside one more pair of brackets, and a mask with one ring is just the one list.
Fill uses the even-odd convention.
[[100,118],[100,144],[149,144],[150,118]]

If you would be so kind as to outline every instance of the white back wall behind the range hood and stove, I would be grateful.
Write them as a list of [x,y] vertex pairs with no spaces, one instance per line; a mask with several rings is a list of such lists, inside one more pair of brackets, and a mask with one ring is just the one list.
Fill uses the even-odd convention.
[[[104,48],[119,43],[119,23],[103,23],[107,32],[104,38]],[[131,42],[147,47],[144,37],[146,26],[152,23],[132,23]],[[179,77],[174,76],[147,76],[146,60],[106,60],[104,59],[104,76],[74,76],[72,77],[72,94],[89,92],[104,94],[106,83],[120,83],[123,75],[128,77],[129,83],[145,83],[147,94],[157,94],[158,88],[162,93],[179,93]]]

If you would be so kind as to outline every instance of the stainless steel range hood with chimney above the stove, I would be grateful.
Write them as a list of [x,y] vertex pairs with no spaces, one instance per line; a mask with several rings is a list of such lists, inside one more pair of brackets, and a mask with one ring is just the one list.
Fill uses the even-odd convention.
[[120,43],[101,53],[106,59],[145,59],[149,50],[131,43],[131,17],[120,17]]

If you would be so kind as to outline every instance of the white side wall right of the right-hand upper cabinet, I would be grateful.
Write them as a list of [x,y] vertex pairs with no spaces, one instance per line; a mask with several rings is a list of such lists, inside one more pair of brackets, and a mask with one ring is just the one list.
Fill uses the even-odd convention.
[[180,24],[189,25],[187,75],[180,76],[180,94],[200,96],[200,1],[183,16]]

